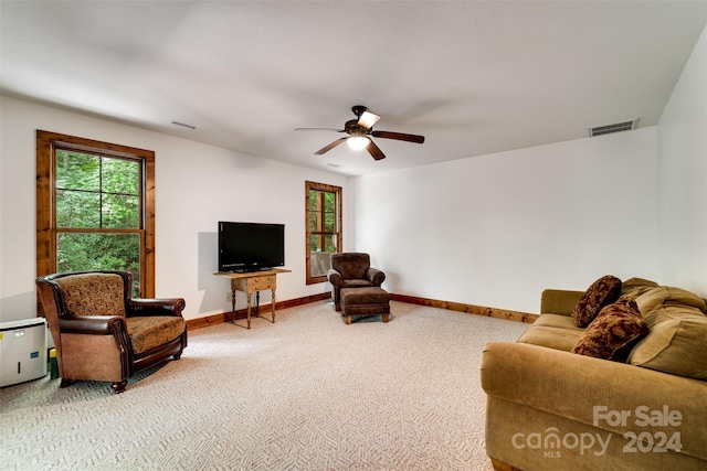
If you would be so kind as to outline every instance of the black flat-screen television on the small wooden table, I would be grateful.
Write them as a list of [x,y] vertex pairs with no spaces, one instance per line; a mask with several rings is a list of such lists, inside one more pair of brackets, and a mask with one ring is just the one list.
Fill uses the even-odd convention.
[[219,271],[260,271],[284,265],[284,224],[219,222]]

